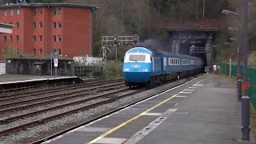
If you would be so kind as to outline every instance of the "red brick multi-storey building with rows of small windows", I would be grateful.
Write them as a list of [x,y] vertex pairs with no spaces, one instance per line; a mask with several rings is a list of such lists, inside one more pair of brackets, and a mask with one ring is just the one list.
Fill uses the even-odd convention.
[[0,6],[0,22],[14,25],[0,34],[0,49],[15,46],[22,54],[92,55],[93,12],[98,6],[68,3],[21,3]]

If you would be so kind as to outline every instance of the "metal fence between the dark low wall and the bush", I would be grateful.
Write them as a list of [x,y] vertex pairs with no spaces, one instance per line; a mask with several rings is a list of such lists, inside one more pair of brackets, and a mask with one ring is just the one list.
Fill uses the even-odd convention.
[[74,66],[74,74],[80,78],[102,78],[102,67]]

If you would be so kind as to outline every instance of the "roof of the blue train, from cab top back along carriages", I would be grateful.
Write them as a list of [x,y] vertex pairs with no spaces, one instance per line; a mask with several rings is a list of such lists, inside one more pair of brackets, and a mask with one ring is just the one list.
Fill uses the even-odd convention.
[[190,56],[190,55],[186,55],[186,54],[178,54],[178,53],[171,53],[168,51],[163,51],[163,50],[155,50],[155,49],[151,49],[151,48],[147,48],[147,47],[134,47],[130,50],[126,51],[126,54],[130,54],[130,53],[137,53],[137,52],[141,52],[141,53],[146,53],[146,54],[152,54],[152,55],[168,55],[168,56],[172,56],[174,58],[193,58],[193,59],[202,59],[202,58],[198,58],[198,57],[194,57],[194,56]]

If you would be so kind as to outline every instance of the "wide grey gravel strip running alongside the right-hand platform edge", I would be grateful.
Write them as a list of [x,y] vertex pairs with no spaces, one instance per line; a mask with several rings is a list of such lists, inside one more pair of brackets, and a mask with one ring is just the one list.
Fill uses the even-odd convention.
[[[191,78],[190,78],[191,79]],[[179,83],[187,82],[188,79],[182,79]],[[138,99],[147,98],[150,94],[158,94],[162,90],[170,89],[171,87],[177,86],[179,84],[178,82],[171,82],[169,84],[158,86],[151,90],[146,90],[140,94],[134,94],[127,98],[119,99],[115,102],[98,106],[97,108],[85,110],[78,112],[77,114],[71,114],[69,116],[55,119],[53,121],[47,122],[46,124],[34,126],[31,128],[28,128],[26,130],[19,131],[15,134],[10,134],[8,136],[4,136],[1,138],[0,143],[29,143],[33,142],[35,140],[38,140],[40,138],[45,138],[46,136],[49,136],[50,134],[54,134],[58,131],[65,130],[66,128],[69,128],[70,126],[77,125],[81,122],[86,122],[90,118],[94,118],[100,114],[104,114],[107,111],[115,110],[116,108],[120,106],[126,106],[127,104],[137,101]]]

